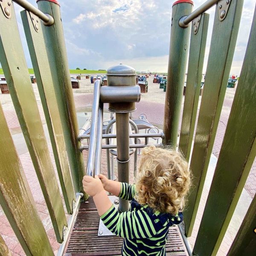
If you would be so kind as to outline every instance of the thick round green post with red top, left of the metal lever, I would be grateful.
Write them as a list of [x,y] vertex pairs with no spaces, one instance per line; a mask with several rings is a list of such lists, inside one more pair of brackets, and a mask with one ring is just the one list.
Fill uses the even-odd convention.
[[60,6],[50,1],[41,0],[38,1],[38,7],[42,12],[54,17],[54,24],[52,26],[42,26],[43,35],[61,116],[73,185],[75,192],[84,192],[82,186],[82,179],[85,175],[84,159],[79,151],[81,143],[77,140],[79,127],[67,62]]

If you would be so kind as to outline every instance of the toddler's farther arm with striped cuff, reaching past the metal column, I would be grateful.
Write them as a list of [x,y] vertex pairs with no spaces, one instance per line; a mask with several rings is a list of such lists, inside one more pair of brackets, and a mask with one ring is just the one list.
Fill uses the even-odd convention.
[[125,200],[132,200],[134,198],[136,185],[108,180],[108,178],[102,174],[99,175],[99,179],[102,181],[104,189],[112,195]]

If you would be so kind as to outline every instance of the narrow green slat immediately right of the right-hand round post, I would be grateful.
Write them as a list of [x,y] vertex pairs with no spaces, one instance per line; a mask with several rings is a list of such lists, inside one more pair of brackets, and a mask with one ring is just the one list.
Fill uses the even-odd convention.
[[187,160],[189,160],[192,140],[194,136],[195,119],[201,89],[208,24],[209,14],[204,13],[201,16],[198,32],[195,34],[193,27],[191,31],[189,67],[179,142],[179,147]]

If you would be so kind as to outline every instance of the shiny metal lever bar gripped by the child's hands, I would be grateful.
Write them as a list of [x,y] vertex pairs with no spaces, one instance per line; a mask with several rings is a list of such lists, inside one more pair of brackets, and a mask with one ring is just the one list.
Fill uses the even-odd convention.
[[[97,143],[97,134],[98,134],[98,123],[99,123],[99,94],[102,81],[96,80],[94,83],[94,93],[93,93],[93,107],[92,107],[92,121],[90,128],[90,141],[89,141],[89,152],[87,160],[87,175],[95,175],[95,161],[96,161],[96,143]],[[100,140],[101,141],[101,140]],[[87,149],[88,149],[87,148]],[[98,151],[99,153],[99,151]]]

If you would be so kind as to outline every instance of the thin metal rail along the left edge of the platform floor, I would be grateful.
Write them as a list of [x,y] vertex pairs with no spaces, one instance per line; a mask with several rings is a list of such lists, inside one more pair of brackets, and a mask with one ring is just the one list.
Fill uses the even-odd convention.
[[81,204],[81,198],[83,198],[83,196],[84,196],[83,193],[76,193],[76,205],[73,209],[73,214],[70,216],[70,219],[68,220],[67,230],[65,231],[65,234],[64,234],[64,240],[61,243],[61,246],[59,247],[57,256],[62,256],[63,253],[64,253],[65,247],[67,245],[67,241],[69,239],[70,231],[71,231],[71,228],[73,226],[73,223],[74,223],[74,220],[75,220],[75,217],[76,217],[76,212],[77,212],[77,209],[79,208],[79,206]]

